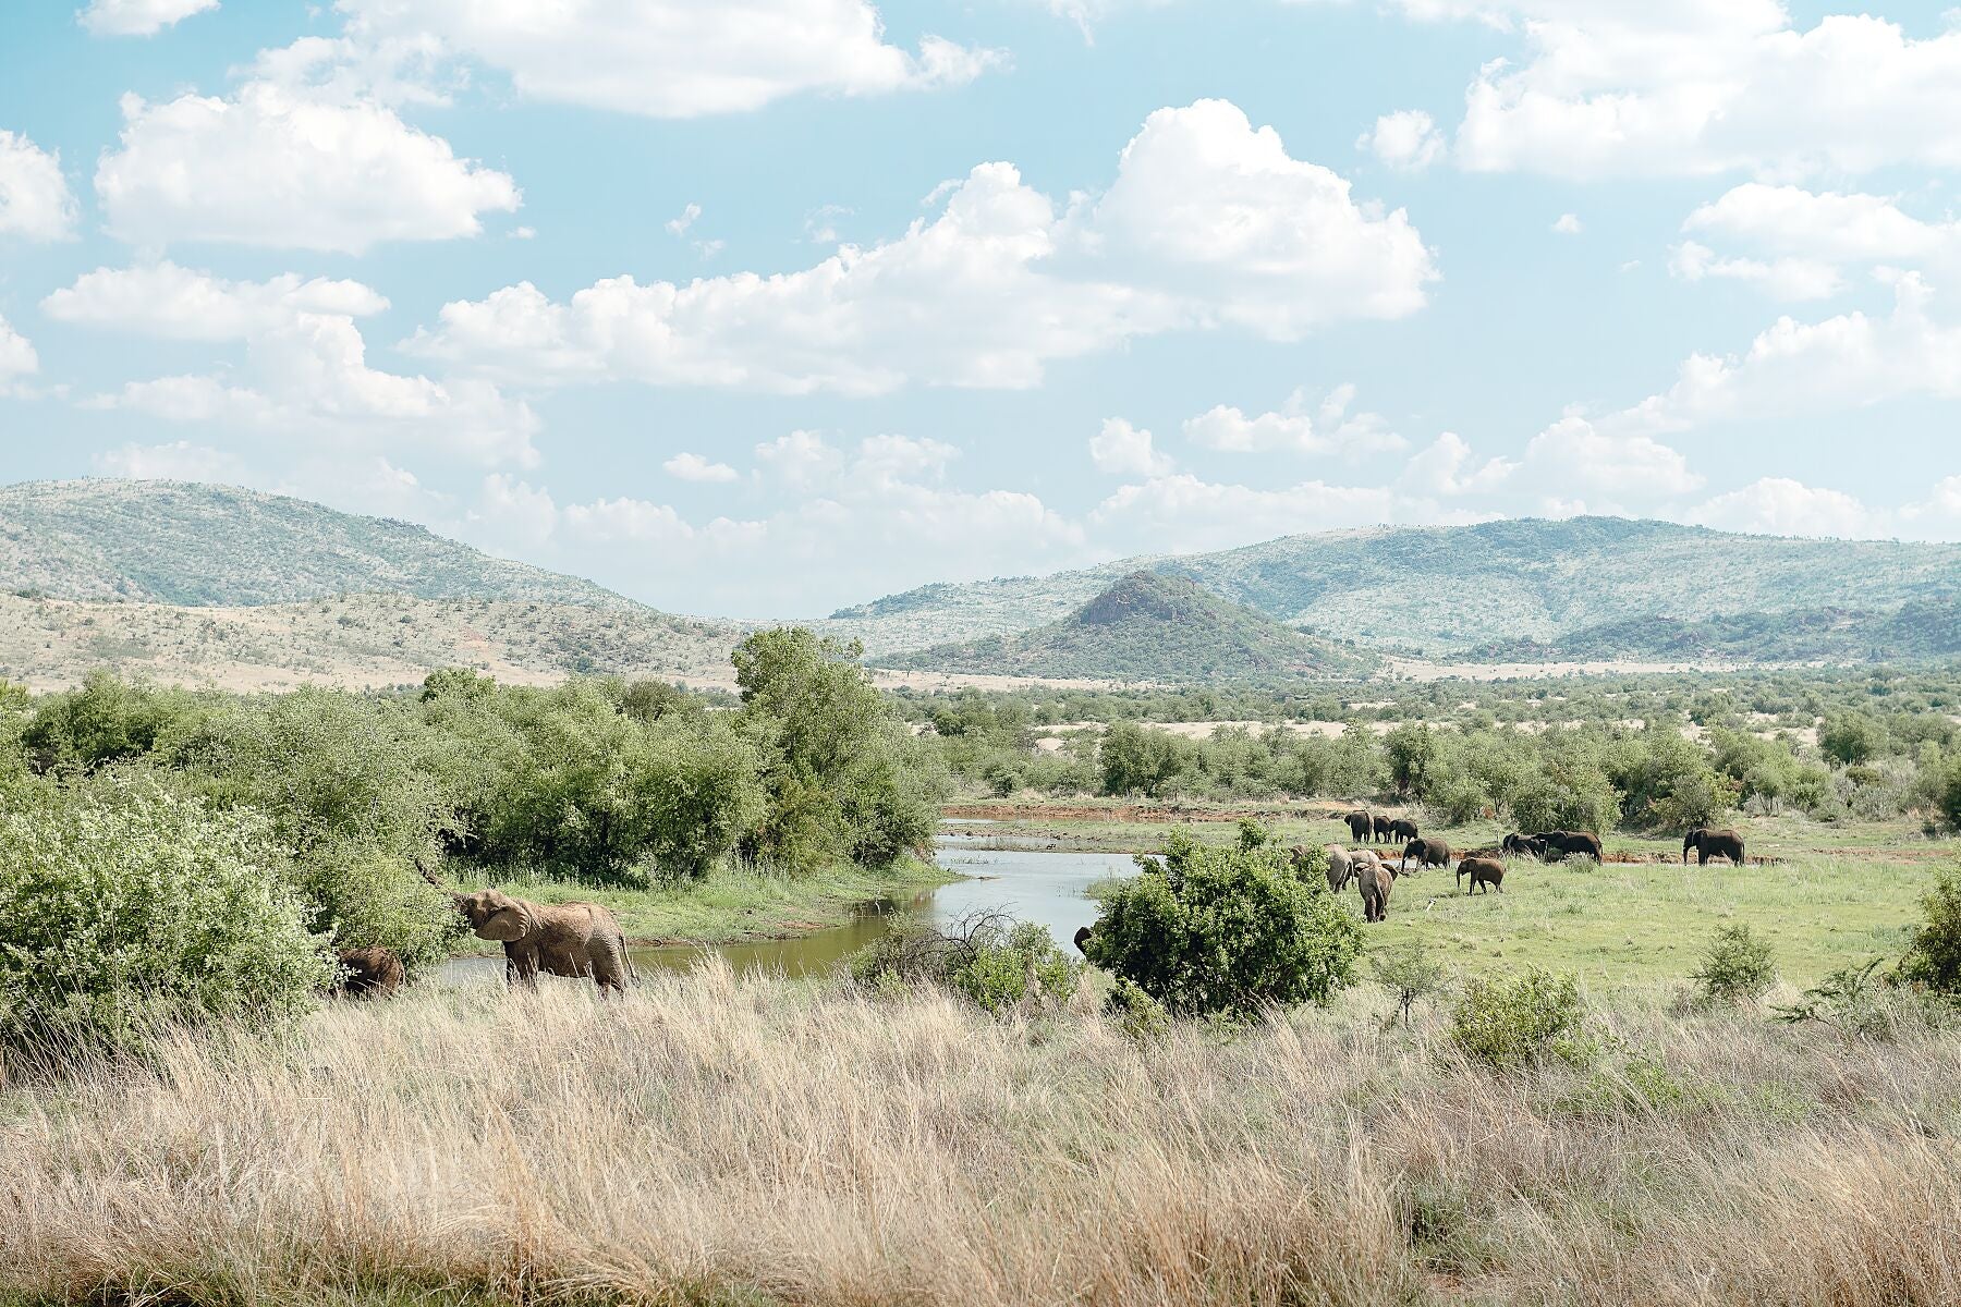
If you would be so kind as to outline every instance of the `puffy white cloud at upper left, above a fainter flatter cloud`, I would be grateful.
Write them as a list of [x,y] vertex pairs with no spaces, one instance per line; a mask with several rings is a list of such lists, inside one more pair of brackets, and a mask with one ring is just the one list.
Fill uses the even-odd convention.
[[365,253],[382,241],[482,231],[518,208],[516,182],[369,100],[247,82],[233,98],[124,98],[118,149],[96,167],[108,227],[159,249],[231,241]]

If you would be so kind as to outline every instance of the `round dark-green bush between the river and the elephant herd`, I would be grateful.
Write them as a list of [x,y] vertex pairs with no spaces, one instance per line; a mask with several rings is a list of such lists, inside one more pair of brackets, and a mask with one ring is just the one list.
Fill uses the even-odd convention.
[[1086,943],[1090,962],[1179,1015],[1253,1017],[1347,986],[1361,923],[1273,848],[1200,848],[1182,831],[1118,884]]

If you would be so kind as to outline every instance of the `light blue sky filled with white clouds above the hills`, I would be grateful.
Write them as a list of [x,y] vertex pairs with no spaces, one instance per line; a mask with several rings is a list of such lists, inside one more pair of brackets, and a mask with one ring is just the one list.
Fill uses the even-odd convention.
[[1939,4],[35,0],[0,478],[733,615],[1383,521],[1961,539],[1955,121]]

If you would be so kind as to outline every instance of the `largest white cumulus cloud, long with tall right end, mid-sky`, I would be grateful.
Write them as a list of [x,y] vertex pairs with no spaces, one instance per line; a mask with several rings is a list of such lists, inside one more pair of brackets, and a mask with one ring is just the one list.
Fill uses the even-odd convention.
[[1067,210],[1006,163],[975,167],[892,241],[761,276],[529,282],[445,304],[410,343],[541,382],[641,380],[884,394],[912,382],[1026,388],[1043,368],[1171,329],[1308,329],[1402,317],[1435,268],[1398,212],[1290,159],[1224,102],[1151,114],[1116,182]]

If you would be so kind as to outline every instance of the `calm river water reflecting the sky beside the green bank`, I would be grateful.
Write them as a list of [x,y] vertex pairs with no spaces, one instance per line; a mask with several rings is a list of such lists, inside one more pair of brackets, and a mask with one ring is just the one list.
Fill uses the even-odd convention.
[[[686,970],[704,952],[720,952],[737,972],[771,970],[786,976],[830,974],[847,954],[884,935],[898,913],[920,913],[933,925],[959,921],[975,911],[1004,911],[1020,921],[1039,921],[1059,944],[1073,950],[1077,927],[1096,919],[1096,903],[1082,892],[1108,876],[1131,876],[1137,866],[1124,852],[1033,852],[1026,848],[969,848],[957,837],[937,843],[939,866],[967,876],[910,899],[879,899],[857,909],[851,923],[747,944],[698,944],[635,948],[633,966]],[[445,962],[443,984],[494,982],[504,976],[504,958],[457,958]]]

